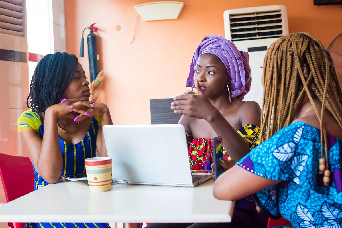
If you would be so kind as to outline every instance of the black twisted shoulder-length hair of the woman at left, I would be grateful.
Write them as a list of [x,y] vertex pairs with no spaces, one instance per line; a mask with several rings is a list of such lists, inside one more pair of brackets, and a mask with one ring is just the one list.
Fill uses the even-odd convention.
[[60,102],[78,65],[76,55],[65,52],[45,55],[31,80],[26,105],[37,113]]

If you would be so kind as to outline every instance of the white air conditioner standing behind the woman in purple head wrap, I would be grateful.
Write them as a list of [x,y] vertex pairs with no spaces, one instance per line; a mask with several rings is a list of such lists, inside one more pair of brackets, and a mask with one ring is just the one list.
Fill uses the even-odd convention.
[[264,57],[269,46],[281,36],[289,34],[286,6],[270,5],[226,10],[225,38],[233,41],[241,51],[249,54],[252,84],[244,100],[262,105],[261,75]]

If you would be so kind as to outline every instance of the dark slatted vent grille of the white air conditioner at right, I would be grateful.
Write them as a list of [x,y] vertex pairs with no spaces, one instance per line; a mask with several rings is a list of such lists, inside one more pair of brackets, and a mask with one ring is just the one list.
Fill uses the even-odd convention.
[[232,41],[277,38],[283,35],[281,11],[229,15]]

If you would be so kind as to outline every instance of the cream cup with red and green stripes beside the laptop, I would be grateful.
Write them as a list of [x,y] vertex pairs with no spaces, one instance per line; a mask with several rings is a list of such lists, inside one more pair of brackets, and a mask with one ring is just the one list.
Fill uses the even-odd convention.
[[86,171],[90,191],[109,191],[111,186],[111,158],[87,158]]

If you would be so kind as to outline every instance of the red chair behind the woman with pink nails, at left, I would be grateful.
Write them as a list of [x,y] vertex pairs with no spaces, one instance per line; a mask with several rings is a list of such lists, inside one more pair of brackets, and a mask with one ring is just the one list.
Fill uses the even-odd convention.
[[[33,191],[35,176],[28,157],[0,153],[0,177],[6,203]],[[7,223],[11,228],[25,228],[24,223]]]

